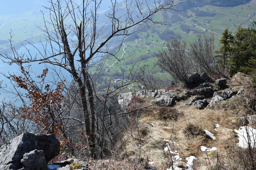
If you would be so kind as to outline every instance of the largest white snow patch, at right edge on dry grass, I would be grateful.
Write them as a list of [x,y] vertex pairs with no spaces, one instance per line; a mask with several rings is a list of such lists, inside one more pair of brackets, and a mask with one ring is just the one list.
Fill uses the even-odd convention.
[[[238,135],[238,146],[241,148],[248,148],[249,143],[251,143],[251,147],[255,147],[256,143],[256,129],[253,129],[249,126],[242,126],[239,130],[234,130],[234,132]],[[249,134],[249,136],[247,135]]]

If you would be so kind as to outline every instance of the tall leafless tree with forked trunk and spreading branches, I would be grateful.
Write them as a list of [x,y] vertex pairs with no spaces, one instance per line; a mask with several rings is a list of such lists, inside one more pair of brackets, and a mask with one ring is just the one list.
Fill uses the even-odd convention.
[[[50,0],[49,2],[51,4],[48,8],[50,20],[44,20],[45,27],[43,29],[46,40],[46,44],[42,42],[44,51],[38,50],[38,56],[34,57],[30,53],[19,55],[12,48],[13,55],[5,54],[3,57],[8,59],[9,64],[35,62],[51,67],[58,66],[73,77],[75,85],[78,86],[77,90],[83,110],[83,121],[81,122],[84,123],[85,134],[89,137],[91,156],[94,157],[96,136],[104,135],[104,131],[113,126],[111,116],[108,119],[109,126],[106,126],[108,123],[104,120],[106,115],[111,114],[108,102],[111,97],[125,87],[122,84],[121,87],[113,90],[111,80],[106,92],[102,94],[103,97],[100,98],[96,94],[96,88],[99,87],[98,82],[103,73],[103,67],[100,71],[94,71],[92,68],[98,67],[95,65],[95,60],[103,57],[103,54],[116,58],[115,53],[108,48],[110,40],[114,37],[123,39],[152,24],[164,24],[161,21],[153,20],[153,15],[167,9],[176,10],[174,7],[183,1],[125,1],[124,8],[121,9],[116,0],[111,0],[109,12],[105,16],[107,22],[101,28],[98,27],[98,20],[103,16],[99,16],[98,10],[102,0],[83,0],[80,4],[76,4],[73,0]],[[105,33],[103,30],[108,30],[108,32]],[[122,42],[120,46],[121,44]],[[117,61],[120,59],[116,58]],[[136,69],[138,67],[123,75],[132,80]],[[99,103],[102,104],[102,108],[96,107]],[[99,127],[99,121],[102,122],[101,127]],[[101,134],[98,134],[100,131]],[[104,142],[100,140],[99,143],[104,148]]]

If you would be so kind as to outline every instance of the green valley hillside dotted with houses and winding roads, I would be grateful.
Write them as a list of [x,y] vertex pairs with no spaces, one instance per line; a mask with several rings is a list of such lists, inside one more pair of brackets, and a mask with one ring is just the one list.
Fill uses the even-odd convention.
[[[116,58],[108,59],[105,63],[105,69],[108,72],[105,75],[114,75],[116,72],[129,72],[135,61],[142,59],[139,66],[144,66],[150,70],[154,63],[157,62],[154,53],[166,48],[164,44],[171,40],[172,36],[177,36],[181,40],[188,42],[197,39],[202,33],[214,33],[216,35],[217,48],[220,46],[219,40],[224,29],[228,28],[235,32],[238,26],[251,27],[252,20],[255,19],[256,0],[249,4],[242,4],[234,7],[217,7],[205,5],[202,7],[192,8],[186,12],[166,11],[153,17],[154,20],[161,20],[168,25],[152,26],[150,29],[136,33],[126,38],[121,48],[115,51],[116,58],[122,59],[117,62]],[[174,20],[178,17],[180,21]],[[164,44],[163,44],[164,43]],[[163,44],[163,45],[162,45]],[[170,77],[161,72],[160,67],[155,67],[153,73],[162,79]],[[92,72],[94,70],[92,69]],[[117,77],[117,78],[122,78]]]

